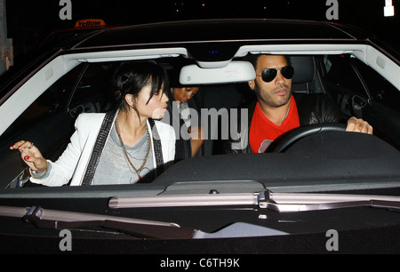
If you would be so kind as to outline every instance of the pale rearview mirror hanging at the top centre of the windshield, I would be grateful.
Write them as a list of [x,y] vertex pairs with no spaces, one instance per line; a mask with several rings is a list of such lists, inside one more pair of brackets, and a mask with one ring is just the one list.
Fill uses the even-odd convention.
[[255,78],[248,61],[231,61],[223,68],[199,68],[195,64],[180,70],[180,84],[226,84],[246,82]]

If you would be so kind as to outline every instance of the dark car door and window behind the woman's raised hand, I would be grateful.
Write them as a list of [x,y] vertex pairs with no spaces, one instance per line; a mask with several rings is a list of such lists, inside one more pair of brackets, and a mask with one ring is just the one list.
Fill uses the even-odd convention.
[[76,117],[83,112],[104,112],[111,105],[109,90],[114,64],[82,63],[60,77],[0,137],[4,156],[0,171],[4,184],[18,188],[32,185],[20,153],[8,149],[18,140],[30,140],[45,158],[52,161],[62,154],[75,131]]

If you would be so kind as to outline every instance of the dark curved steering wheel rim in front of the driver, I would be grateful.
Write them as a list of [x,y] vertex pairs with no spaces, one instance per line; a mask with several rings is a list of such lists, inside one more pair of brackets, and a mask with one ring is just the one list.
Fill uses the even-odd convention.
[[346,132],[345,124],[323,123],[323,124],[309,124],[301,126],[289,132],[282,140],[274,141],[274,144],[268,148],[268,152],[283,152],[284,149],[290,147],[294,142],[311,135],[324,132]]

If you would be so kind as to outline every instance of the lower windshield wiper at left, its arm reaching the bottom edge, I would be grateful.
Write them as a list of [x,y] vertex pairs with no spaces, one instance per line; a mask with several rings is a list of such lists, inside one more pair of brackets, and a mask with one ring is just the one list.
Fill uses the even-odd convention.
[[175,223],[137,220],[83,212],[47,210],[33,206],[28,208],[0,206],[0,216],[22,218],[36,228],[71,229],[102,227],[115,229],[139,238],[206,239],[251,236],[283,236],[288,233],[245,222],[236,222],[218,231],[207,233],[195,228],[182,228]]

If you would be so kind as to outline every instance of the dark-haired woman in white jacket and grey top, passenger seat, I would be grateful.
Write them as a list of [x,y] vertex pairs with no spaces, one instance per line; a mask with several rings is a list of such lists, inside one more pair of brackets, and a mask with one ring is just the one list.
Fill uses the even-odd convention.
[[29,141],[10,148],[20,150],[30,180],[44,186],[62,186],[71,178],[71,186],[146,182],[175,155],[172,127],[152,119],[164,116],[167,85],[164,69],[155,63],[123,63],[115,76],[116,110],[78,116],[57,162],[45,160]]

